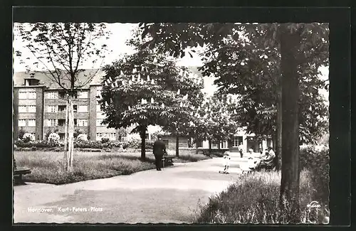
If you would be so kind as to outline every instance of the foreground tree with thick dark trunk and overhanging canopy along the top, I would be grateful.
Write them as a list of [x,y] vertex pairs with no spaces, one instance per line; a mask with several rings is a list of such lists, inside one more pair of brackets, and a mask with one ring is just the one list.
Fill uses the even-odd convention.
[[[281,55],[281,75],[278,83],[278,133],[282,139],[281,201],[288,202],[286,210],[290,222],[295,222],[299,210],[299,75],[298,65],[315,65],[328,62],[327,25],[319,23],[142,23],[142,37],[149,36],[146,45],[159,44],[162,52],[184,55],[188,47],[216,45],[227,36],[238,38],[244,33],[250,41],[264,48],[278,46]],[[321,61],[321,62],[320,62]],[[252,76],[251,76],[252,77]],[[283,210],[285,207],[281,207]]]

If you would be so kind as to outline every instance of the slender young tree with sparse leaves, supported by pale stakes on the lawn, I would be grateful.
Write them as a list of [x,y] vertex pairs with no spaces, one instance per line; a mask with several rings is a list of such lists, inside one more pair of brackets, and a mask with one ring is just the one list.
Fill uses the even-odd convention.
[[[15,25],[23,48],[16,55],[28,70],[40,70],[66,92],[66,132],[63,166],[73,171],[73,100],[80,88],[92,80],[92,72],[81,80],[83,64],[103,62],[109,32],[104,23],[19,23]],[[104,40],[104,42],[103,42]],[[27,55],[28,54],[28,55]]]

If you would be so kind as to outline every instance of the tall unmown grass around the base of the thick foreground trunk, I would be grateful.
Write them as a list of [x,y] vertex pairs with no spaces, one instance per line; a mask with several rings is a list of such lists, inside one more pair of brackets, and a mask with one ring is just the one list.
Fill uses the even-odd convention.
[[[308,210],[308,203],[318,200],[310,171],[300,173],[300,223],[320,224],[330,216],[327,205]],[[242,175],[225,191],[214,195],[206,205],[199,205],[197,223],[276,224],[288,223],[278,207],[281,173],[256,172]],[[325,192],[324,192],[325,193]],[[318,200],[320,202],[320,200]]]

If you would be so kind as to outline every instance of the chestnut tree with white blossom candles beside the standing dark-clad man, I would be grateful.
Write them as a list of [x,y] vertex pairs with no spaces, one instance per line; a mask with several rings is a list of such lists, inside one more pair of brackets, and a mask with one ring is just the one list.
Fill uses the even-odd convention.
[[179,135],[188,107],[199,104],[203,84],[174,60],[137,49],[132,55],[104,68],[100,107],[106,114],[103,124],[122,128],[135,125],[140,134],[141,158],[145,159],[145,134],[149,125],[158,125]]

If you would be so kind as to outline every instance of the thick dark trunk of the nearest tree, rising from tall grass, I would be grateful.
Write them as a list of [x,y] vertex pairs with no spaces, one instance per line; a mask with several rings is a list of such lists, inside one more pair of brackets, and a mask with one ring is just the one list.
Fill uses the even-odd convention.
[[298,73],[295,60],[299,45],[298,33],[290,33],[286,24],[281,26],[282,70],[282,178],[281,213],[288,222],[300,221],[299,209],[299,123],[298,123]]

